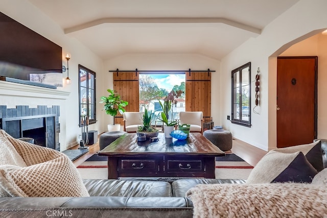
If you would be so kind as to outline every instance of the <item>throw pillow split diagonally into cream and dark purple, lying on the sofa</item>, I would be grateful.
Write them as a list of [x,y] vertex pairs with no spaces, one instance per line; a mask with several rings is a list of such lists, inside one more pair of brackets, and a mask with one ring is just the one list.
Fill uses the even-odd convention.
[[252,169],[246,183],[307,182],[318,172],[302,152],[270,151]]

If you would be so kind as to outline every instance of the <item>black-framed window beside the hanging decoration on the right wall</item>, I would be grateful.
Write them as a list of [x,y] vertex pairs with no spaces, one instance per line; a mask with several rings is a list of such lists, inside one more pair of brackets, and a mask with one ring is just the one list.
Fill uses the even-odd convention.
[[231,71],[231,123],[251,127],[251,62]]

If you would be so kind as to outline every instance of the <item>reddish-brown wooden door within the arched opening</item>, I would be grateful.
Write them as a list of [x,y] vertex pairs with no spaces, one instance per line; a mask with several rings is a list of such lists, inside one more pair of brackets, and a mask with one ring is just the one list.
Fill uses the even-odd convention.
[[277,58],[277,147],[317,137],[318,57]]

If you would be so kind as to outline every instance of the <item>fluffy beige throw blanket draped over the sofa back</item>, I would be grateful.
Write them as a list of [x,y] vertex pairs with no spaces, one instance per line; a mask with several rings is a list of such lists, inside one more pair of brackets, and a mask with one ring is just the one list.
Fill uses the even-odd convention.
[[327,217],[327,187],[300,183],[197,185],[194,217]]

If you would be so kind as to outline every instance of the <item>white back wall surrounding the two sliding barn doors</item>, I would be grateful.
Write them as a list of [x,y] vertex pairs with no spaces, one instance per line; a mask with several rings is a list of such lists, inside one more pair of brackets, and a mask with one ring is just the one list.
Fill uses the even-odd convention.
[[[186,55],[186,54],[134,54],[119,56],[104,63],[106,74],[103,82],[103,95],[107,95],[107,89],[113,88],[112,84],[112,72],[109,70],[216,70],[212,72],[212,110],[211,114],[215,125],[220,125],[220,61],[211,59],[201,55]],[[103,123],[102,129],[106,128],[107,124],[112,124],[113,119],[111,116],[102,113],[103,119],[106,120]]]

